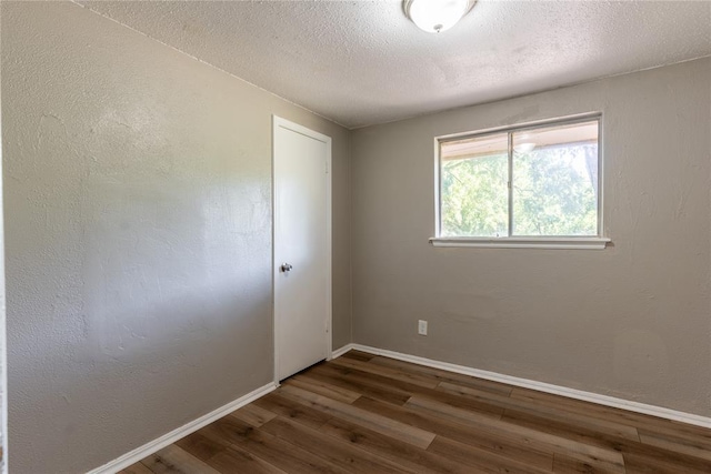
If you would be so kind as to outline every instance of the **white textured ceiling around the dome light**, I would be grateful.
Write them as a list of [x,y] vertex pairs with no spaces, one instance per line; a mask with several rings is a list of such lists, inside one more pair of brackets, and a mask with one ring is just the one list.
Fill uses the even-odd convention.
[[711,2],[480,0],[440,34],[400,1],[81,1],[349,128],[711,54]]

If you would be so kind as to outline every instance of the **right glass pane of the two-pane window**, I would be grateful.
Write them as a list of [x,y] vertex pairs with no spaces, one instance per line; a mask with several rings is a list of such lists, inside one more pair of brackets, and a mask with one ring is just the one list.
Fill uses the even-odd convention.
[[598,121],[513,132],[513,235],[598,235]]

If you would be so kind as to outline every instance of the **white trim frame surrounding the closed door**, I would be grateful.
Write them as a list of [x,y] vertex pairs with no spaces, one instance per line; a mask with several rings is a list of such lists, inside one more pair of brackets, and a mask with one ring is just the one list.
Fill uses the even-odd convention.
[[331,351],[333,344],[332,337],[332,326],[333,326],[333,296],[332,296],[332,225],[331,225],[331,216],[332,216],[332,174],[333,167],[331,160],[331,138],[324,135],[322,133],[316,132],[311,129],[308,129],[298,123],[291,122],[287,119],[282,119],[281,117],[272,114],[272,131],[271,131],[271,321],[272,321],[272,337],[273,337],[273,379],[274,384],[279,386],[279,324],[277,321],[277,261],[274,258],[274,250],[277,248],[277,212],[276,212],[276,203],[277,203],[277,180],[274,173],[274,158],[276,158],[276,142],[277,142],[277,130],[279,128],[283,128],[287,130],[291,130],[292,132],[300,133],[304,137],[309,137],[311,139],[318,140],[327,144],[327,153],[326,153],[326,278],[327,278],[327,291],[326,291],[326,360],[331,360]]

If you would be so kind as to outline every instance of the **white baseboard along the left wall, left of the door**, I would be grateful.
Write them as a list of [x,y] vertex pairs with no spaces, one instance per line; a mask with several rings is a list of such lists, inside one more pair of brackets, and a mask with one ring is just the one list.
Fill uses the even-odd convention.
[[131,451],[130,453],[126,453],[124,455],[117,457],[116,460],[102,465],[101,467],[97,467],[93,471],[89,471],[88,474],[113,474],[117,473],[128,466],[130,466],[131,464],[136,464],[139,461],[141,461],[143,457],[149,456],[153,453],[156,453],[157,451],[162,450],[163,447],[168,446],[169,444],[173,444],[176,441],[191,434],[194,433],[196,431],[200,430],[203,426],[209,425],[210,423],[221,418],[224,415],[228,415],[230,413],[232,413],[233,411],[236,411],[237,409],[240,409],[244,405],[247,405],[248,403],[253,402],[254,400],[259,399],[260,396],[267,395],[269,392],[273,391],[274,389],[277,389],[277,385],[272,382],[272,383],[268,383],[264,386],[261,386],[250,393],[248,393],[247,395],[240,396],[239,399],[228,403],[224,406],[221,406],[210,413],[208,413],[207,415],[200,416],[197,420],[193,420],[182,426],[180,426],[177,430],[171,431],[170,433],[166,433],[164,435],[162,435],[159,438],[156,438],[149,443],[146,443],[142,446],[137,447],[136,450]]

